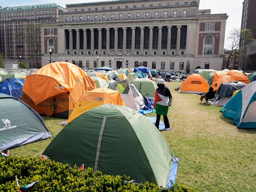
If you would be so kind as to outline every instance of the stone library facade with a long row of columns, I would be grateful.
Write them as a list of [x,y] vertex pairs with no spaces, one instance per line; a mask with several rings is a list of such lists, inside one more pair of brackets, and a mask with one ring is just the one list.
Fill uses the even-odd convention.
[[[49,62],[51,48],[52,61],[89,69],[221,69],[227,15],[210,14],[198,6],[199,0],[67,4],[56,24],[41,25],[42,64]],[[51,29],[56,33],[49,34]]]

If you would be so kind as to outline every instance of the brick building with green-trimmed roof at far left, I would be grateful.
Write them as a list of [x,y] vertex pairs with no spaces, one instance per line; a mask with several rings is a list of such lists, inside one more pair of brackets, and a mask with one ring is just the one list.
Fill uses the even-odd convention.
[[[38,4],[27,6],[1,7],[0,8],[0,53],[6,59],[19,59],[27,62],[27,67],[41,65],[41,34],[40,28],[35,30],[36,45],[27,40],[28,27],[31,23],[56,23],[58,11],[66,11],[57,4]],[[54,32],[54,31],[52,31]],[[18,35],[23,34],[22,37]],[[37,47],[38,46],[38,47]],[[35,50],[36,49],[36,50]],[[35,66],[35,51],[39,62]]]

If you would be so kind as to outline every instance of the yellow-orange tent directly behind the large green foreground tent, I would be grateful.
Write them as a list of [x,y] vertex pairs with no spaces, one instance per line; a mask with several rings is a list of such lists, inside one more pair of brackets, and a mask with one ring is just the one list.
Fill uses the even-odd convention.
[[71,122],[83,112],[102,104],[116,104],[125,106],[118,91],[111,90],[109,88],[95,88],[82,93],[73,111],[68,117],[68,122]]

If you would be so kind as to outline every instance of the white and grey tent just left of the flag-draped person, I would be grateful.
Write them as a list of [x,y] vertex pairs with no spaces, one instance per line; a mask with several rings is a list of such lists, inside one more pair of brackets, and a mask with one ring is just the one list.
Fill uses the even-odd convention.
[[136,111],[143,109],[145,106],[144,98],[138,92],[134,84],[128,84],[121,94],[121,97],[126,106],[133,108]]

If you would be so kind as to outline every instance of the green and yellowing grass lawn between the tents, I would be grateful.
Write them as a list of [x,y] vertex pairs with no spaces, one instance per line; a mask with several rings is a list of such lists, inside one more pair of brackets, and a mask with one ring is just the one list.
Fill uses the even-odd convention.
[[[179,158],[177,184],[199,191],[256,191],[256,129],[237,129],[221,116],[221,107],[175,91],[179,84],[167,83],[173,97],[168,113],[172,130],[161,132]],[[43,118],[53,136],[62,129],[58,122],[63,119]],[[51,140],[13,148],[10,154],[39,156]]]

